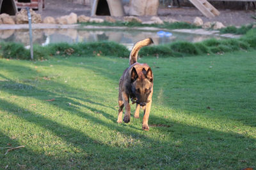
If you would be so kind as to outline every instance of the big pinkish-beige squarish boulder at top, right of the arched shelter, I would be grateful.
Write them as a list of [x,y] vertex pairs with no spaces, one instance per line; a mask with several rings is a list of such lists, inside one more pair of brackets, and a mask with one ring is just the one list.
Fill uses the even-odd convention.
[[131,0],[129,15],[157,15],[159,0]]

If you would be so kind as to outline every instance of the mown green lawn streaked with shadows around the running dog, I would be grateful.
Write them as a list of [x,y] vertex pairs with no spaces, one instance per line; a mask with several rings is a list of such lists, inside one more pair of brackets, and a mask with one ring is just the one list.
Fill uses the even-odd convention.
[[255,168],[255,53],[140,59],[154,73],[148,132],[142,111],[116,123],[127,58],[1,59],[0,169]]

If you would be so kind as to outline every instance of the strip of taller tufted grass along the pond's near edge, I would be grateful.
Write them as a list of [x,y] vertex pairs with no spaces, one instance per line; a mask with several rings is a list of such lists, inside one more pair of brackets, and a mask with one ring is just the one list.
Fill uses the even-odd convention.
[[[200,43],[177,41],[165,45],[146,46],[140,51],[140,57],[187,57],[210,53],[225,53],[239,50],[253,50],[256,48],[256,29],[250,29],[239,39],[208,39]],[[58,43],[47,46],[35,46],[36,60],[49,59],[54,56],[81,56],[112,55],[116,57],[129,57],[129,50],[124,45],[115,42],[99,41],[93,43]],[[1,43],[0,58],[29,59],[29,50],[18,43]]]

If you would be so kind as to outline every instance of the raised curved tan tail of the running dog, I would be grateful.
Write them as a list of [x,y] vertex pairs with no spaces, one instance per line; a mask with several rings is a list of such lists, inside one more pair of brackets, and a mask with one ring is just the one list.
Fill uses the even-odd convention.
[[138,41],[133,47],[132,47],[132,50],[131,50],[131,53],[130,53],[130,57],[129,57],[129,60],[130,60],[130,66],[132,64],[134,64],[135,62],[137,62],[137,57],[138,57],[138,53],[140,51],[140,48],[142,48],[143,46],[147,46],[147,45],[150,45],[154,43],[153,40],[151,38],[146,38],[146,39],[143,39],[141,41]]

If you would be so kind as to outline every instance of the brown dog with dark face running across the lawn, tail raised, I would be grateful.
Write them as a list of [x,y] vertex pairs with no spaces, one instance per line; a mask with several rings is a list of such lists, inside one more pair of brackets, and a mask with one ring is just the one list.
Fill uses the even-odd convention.
[[140,117],[140,107],[144,110],[142,129],[148,131],[148,117],[152,103],[153,94],[153,73],[148,64],[140,64],[137,62],[138,52],[143,46],[153,43],[151,38],[138,41],[130,53],[130,66],[125,69],[119,81],[119,96],[118,96],[118,123],[122,123],[123,108],[125,106],[124,122],[130,122],[131,106],[136,103],[136,111],[134,118]]

